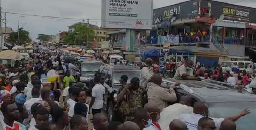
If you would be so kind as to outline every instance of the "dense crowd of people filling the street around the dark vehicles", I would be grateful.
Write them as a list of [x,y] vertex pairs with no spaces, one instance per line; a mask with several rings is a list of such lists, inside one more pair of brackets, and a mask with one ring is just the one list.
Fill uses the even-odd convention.
[[[234,122],[250,113],[245,109],[233,117],[209,118],[203,102],[186,96],[177,102],[175,87],[180,83],[162,87],[162,77],[154,75],[153,61],[147,58],[140,77],[132,77],[130,83],[127,75],[120,77],[122,87],[113,108],[121,113],[119,122],[108,122],[102,112],[106,91],[102,75],[95,73],[88,100],[90,94],[76,78],[75,61],[64,66],[62,58],[61,54],[38,55],[14,68],[0,65],[0,130],[88,130],[90,122],[90,130],[236,130]],[[186,61],[174,78],[200,80],[191,68],[193,62]],[[50,71],[59,76],[51,83],[43,82]]]

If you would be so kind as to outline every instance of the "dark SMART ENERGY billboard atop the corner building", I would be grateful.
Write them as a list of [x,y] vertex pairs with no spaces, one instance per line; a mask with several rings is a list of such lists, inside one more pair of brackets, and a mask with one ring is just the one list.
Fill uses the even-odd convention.
[[256,8],[212,0],[202,0],[202,8],[209,8],[209,17],[216,19],[256,23]]

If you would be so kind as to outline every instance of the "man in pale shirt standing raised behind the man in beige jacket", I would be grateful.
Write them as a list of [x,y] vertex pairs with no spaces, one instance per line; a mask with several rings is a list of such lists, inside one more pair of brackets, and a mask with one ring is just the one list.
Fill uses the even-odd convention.
[[147,58],[145,60],[145,66],[140,71],[140,87],[141,89],[146,89],[147,83],[151,80],[153,72],[151,70],[151,66],[153,65],[153,60],[151,58]]

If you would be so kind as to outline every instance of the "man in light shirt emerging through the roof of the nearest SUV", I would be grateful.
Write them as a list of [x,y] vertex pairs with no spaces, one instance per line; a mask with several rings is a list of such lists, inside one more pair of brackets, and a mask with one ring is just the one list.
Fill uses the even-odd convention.
[[178,67],[174,79],[179,80],[199,80],[198,77],[193,77],[193,61],[187,60],[185,64]]

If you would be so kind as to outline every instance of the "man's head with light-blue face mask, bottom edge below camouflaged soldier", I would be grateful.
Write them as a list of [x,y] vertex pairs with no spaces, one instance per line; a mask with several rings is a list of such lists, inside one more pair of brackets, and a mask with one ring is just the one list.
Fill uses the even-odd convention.
[[140,130],[144,130],[144,128],[152,125],[148,111],[143,108],[134,111],[134,122],[140,127]]

